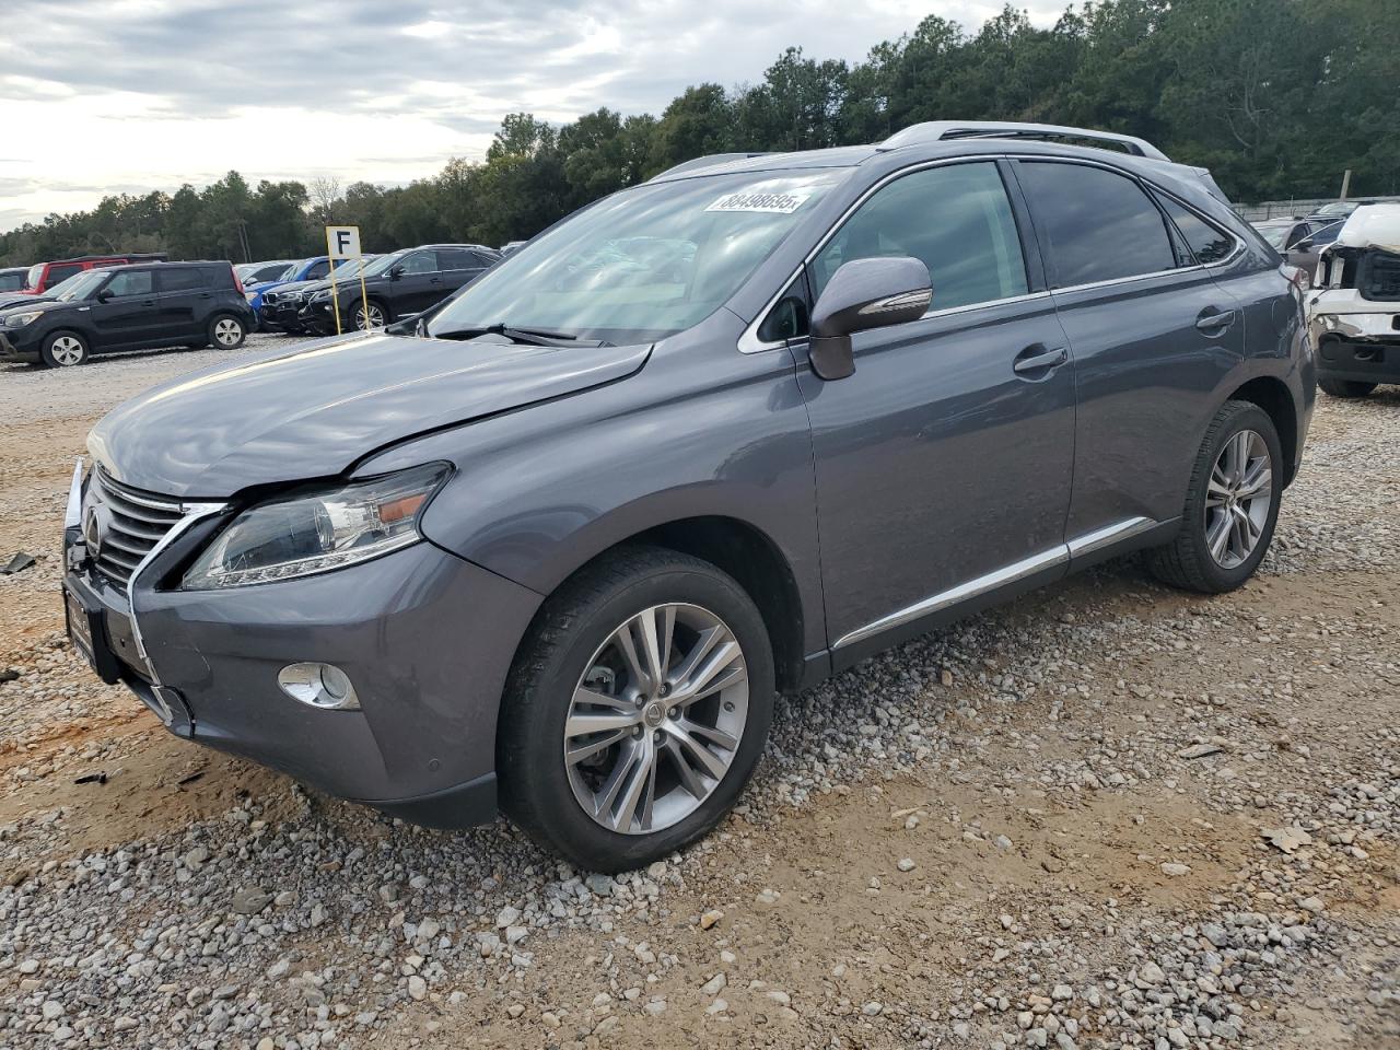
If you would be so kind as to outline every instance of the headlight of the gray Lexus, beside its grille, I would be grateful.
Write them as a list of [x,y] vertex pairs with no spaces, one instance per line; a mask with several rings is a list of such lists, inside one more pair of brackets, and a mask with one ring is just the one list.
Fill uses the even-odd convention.
[[368,561],[417,543],[419,518],[448,463],[302,490],[251,507],[185,573],[188,591],[291,580]]

